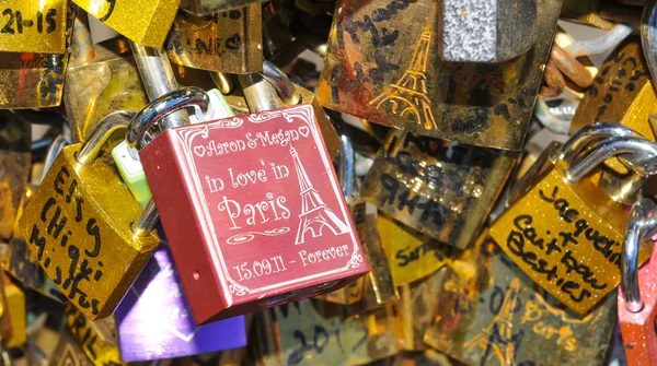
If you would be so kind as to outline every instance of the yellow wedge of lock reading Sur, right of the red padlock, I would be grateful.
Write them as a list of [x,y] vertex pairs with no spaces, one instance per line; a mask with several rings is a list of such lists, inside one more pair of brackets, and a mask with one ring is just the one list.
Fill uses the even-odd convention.
[[431,275],[448,263],[453,251],[453,247],[423,235],[385,214],[378,215],[377,228],[396,286],[407,286]]

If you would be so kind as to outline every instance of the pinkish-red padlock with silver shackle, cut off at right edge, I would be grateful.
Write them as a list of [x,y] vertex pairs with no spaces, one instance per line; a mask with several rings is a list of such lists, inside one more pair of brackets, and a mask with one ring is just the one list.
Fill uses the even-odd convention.
[[650,260],[637,268],[639,243],[657,233],[656,214],[649,199],[634,203],[623,240],[619,321],[630,366],[657,365],[657,246]]

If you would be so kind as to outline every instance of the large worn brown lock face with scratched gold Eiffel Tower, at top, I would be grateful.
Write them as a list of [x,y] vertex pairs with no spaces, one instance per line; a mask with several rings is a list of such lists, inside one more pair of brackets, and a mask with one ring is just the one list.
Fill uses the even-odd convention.
[[318,97],[371,122],[461,143],[521,150],[561,9],[538,1],[537,44],[503,63],[438,59],[438,3],[342,0]]

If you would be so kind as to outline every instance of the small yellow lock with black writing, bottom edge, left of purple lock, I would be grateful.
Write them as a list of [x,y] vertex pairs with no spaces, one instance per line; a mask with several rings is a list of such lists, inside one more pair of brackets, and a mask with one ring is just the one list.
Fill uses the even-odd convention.
[[70,334],[93,365],[127,365],[118,351],[114,318],[92,321],[72,305],[67,306],[65,315]]

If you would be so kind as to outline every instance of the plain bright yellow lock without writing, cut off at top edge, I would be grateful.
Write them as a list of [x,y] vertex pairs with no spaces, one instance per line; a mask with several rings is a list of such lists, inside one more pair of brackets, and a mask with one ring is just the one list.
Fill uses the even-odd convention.
[[73,0],[135,43],[162,48],[180,0]]

